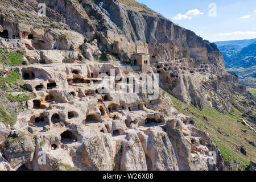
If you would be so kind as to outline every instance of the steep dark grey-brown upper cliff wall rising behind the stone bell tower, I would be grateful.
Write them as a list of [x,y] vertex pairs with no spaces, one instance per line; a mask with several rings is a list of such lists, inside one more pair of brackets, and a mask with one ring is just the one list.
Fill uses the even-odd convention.
[[[215,44],[163,16],[133,9],[123,1],[81,1],[76,6],[73,1],[38,2],[57,11],[73,30],[90,35],[88,38],[96,35],[101,50],[108,49],[123,61],[129,61],[133,53],[149,53],[155,73],[161,74],[162,86],[199,109],[207,106],[225,113],[231,109],[227,96],[242,92],[237,77],[226,72]],[[49,16],[54,18],[51,12]],[[222,89],[209,94],[208,85],[216,88],[218,82]]]

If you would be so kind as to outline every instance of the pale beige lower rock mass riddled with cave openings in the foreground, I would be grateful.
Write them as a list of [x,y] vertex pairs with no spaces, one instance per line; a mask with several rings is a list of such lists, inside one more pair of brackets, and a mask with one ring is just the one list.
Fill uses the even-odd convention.
[[[108,171],[224,169],[217,146],[197,129],[195,121],[177,113],[162,90],[157,98],[116,90],[108,93],[112,86],[98,75],[112,75],[111,69],[125,81],[113,80],[113,88],[126,85],[127,74],[133,72],[108,63],[19,68],[20,75],[34,75],[26,86],[35,98],[28,101],[31,112],[20,113],[14,127],[23,127],[25,119],[36,136],[33,159],[20,164],[30,170],[60,170],[60,164]],[[143,80],[136,82],[143,85]],[[13,156],[7,157],[14,163]]]

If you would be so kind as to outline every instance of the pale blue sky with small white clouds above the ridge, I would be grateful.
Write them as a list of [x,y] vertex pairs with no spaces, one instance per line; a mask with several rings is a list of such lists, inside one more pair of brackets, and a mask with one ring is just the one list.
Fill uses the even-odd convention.
[[210,42],[256,38],[255,0],[137,1]]

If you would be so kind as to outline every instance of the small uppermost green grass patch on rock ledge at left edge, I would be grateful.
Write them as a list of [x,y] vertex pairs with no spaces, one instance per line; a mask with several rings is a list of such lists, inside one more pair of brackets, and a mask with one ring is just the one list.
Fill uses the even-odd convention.
[[[3,50],[0,50],[0,53]],[[20,52],[9,52],[3,53],[0,56],[0,62],[4,63],[5,65],[22,65],[23,55]]]

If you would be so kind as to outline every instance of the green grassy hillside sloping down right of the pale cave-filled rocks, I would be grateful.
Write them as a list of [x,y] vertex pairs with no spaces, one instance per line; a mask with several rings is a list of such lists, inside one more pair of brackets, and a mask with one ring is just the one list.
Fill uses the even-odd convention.
[[[255,141],[255,133],[243,126],[240,118],[233,113],[219,113],[215,109],[205,108],[200,111],[196,107],[184,104],[170,94],[168,95],[175,108],[180,113],[190,115],[197,127],[208,133],[214,143],[217,144],[222,156],[224,156],[224,161],[230,163],[232,167],[226,167],[226,169],[244,170],[249,165],[250,160],[256,160],[256,149],[248,142],[248,140]],[[242,130],[247,131],[244,133]],[[246,148],[247,156],[241,154],[241,146]]]

